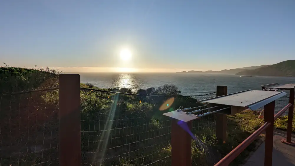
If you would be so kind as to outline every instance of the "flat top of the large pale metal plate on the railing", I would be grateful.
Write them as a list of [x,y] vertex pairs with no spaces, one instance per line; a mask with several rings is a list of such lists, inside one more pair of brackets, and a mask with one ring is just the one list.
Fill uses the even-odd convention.
[[282,92],[249,90],[241,93],[235,93],[232,95],[225,95],[213,99],[202,100],[202,102],[247,107],[248,105],[266,100],[267,98],[273,97],[280,93]]

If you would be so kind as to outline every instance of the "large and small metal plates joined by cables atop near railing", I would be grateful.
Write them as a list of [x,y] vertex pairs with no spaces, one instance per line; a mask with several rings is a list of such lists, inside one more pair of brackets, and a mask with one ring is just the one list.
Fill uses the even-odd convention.
[[[194,107],[194,108],[185,108],[182,110],[175,110],[168,113],[163,113],[165,116],[169,116],[171,118],[188,122],[194,119],[201,118],[202,116],[209,115],[211,113],[221,113],[221,114],[230,114],[234,115],[240,111],[243,111],[247,108],[251,110],[256,110],[268,103],[277,100],[278,98],[286,95],[286,92],[269,92],[262,90],[245,90],[242,92],[232,93],[228,95],[223,95],[219,97],[213,97],[210,99],[201,100],[200,102],[209,103],[209,108],[197,109],[204,106]],[[187,110],[193,110],[191,112],[185,112]],[[218,109],[214,111],[209,111],[203,114],[194,115],[194,113],[200,113],[204,110],[210,109]]]

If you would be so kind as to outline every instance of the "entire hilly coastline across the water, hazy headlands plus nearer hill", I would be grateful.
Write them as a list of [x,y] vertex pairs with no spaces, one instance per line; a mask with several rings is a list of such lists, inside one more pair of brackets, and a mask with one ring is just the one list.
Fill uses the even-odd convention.
[[273,65],[250,66],[221,71],[181,71],[176,73],[203,73],[203,74],[236,74],[242,76],[277,76],[295,77],[295,60],[283,61]]

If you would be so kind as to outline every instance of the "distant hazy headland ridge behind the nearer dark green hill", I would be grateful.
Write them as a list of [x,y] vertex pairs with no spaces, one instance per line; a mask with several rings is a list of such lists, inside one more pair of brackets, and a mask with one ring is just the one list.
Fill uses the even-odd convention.
[[204,73],[204,74],[236,74],[238,72],[241,72],[241,71],[247,71],[247,70],[252,70],[252,69],[258,69],[258,68],[261,68],[261,67],[266,67],[266,66],[269,66],[269,65],[261,65],[261,66],[249,66],[249,67],[243,67],[243,68],[236,68],[236,69],[224,69],[224,70],[221,70],[221,71],[212,71],[212,70],[208,70],[208,71],[194,71],[194,70],[191,70],[191,71],[181,71],[181,72],[176,72],[176,73]]

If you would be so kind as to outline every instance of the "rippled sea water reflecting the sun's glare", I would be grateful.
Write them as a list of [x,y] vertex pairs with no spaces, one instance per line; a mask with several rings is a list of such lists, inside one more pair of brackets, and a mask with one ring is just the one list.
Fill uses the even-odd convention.
[[132,91],[140,88],[174,84],[183,95],[199,95],[216,91],[217,85],[226,85],[228,93],[248,89],[261,89],[271,83],[295,83],[295,77],[240,77],[234,74],[194,73],[80,73],[82,83],[91,83],[100,88],[127,87]]

